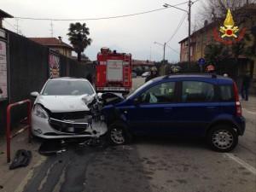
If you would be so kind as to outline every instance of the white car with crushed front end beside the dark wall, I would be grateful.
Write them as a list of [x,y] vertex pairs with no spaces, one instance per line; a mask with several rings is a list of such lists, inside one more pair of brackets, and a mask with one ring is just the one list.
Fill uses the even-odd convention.
[[100,137],[108,131],[97,118],[96,91],[87,79],[49,79],[32,108],[32,134],[42,138]]

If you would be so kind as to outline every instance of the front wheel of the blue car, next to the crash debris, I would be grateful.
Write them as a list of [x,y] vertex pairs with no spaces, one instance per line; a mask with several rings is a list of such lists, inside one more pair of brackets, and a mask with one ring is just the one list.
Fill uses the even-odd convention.
[[122,122],[114,122],[108,127],[108,140],[112,145],[124,145],[131,142],[131,133]]

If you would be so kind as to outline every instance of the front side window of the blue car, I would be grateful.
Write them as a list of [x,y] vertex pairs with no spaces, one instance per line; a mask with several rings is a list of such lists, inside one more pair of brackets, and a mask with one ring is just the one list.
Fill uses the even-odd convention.
[[174,102],[175,101],[174,89],[175,89],[174,82],[157,84],[154,87],[151,87],[149,90],[146,90],[140,96],[140,100],[143,103]]

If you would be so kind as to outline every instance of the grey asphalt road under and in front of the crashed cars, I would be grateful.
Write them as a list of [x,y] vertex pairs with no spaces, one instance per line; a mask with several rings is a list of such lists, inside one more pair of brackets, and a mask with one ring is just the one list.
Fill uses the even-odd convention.
[[[134,87],[143,79],[134,80]],[[247,130],[229,154],[203,140],[139,137],[118,147],[79,147],[47,158],[26,192],[254,192],[255,115],[244,111]]]

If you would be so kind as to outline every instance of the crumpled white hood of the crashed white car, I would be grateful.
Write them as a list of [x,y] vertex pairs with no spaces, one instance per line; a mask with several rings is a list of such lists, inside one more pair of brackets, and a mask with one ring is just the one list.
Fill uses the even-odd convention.
[[41,104],[52,113],[89,111],[85,103],[89,103],[94,96],[38,96],[35,104]]

